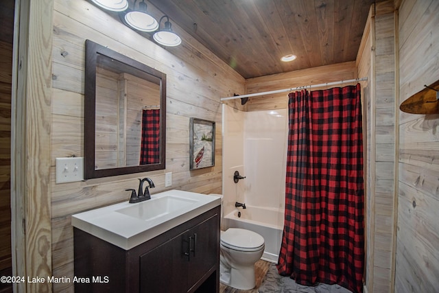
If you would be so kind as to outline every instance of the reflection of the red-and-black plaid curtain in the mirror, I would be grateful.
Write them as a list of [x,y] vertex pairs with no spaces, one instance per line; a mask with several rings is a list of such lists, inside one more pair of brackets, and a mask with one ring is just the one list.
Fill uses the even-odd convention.
[[160,163],[159,139],[160,109],[143,109],[140,165]]

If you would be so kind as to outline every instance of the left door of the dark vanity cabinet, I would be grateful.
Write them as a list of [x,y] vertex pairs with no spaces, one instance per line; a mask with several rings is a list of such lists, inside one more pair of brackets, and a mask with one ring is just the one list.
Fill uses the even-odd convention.
[[140,292],[186,292],[187,257],[180,234],[140,257]]

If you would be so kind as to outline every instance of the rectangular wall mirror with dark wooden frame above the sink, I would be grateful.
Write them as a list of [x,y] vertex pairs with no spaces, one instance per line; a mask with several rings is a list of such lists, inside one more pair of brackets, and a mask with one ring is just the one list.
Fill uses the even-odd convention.
[[85,172],[165,169],[166,75],[86,40]]

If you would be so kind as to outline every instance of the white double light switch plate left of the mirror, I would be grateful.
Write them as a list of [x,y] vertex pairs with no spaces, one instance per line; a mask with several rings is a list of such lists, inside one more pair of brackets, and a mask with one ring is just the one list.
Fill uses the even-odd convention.
[[84,180],[84,158],[56,158],[56,183],[67,183]]

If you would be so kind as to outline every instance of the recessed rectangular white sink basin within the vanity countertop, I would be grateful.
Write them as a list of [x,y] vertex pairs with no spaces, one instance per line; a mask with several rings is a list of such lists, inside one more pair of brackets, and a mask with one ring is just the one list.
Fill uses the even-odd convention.
[[123,213],[129,217],[147,221],[163,217],[169,213],[176,213],[195,202],[198,202],[198,200],[178,196],[161,196],[139,202],[138,204],[132,204],[130,207],[118,209],[117,213]]

